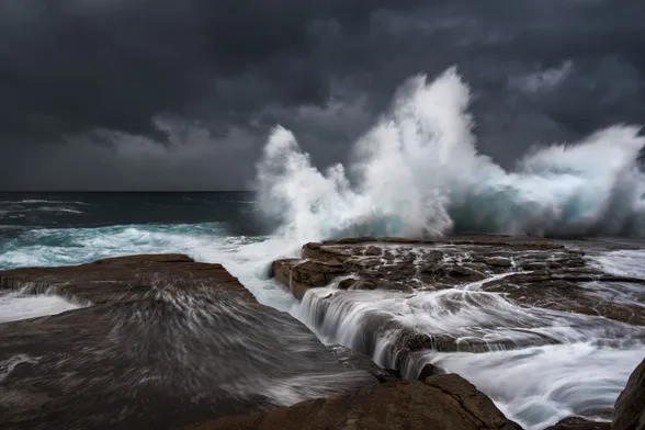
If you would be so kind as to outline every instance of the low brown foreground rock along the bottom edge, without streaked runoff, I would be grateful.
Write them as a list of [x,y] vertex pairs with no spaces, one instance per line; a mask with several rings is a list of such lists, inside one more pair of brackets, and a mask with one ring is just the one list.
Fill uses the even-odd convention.
[[186,430],[521,430],[462,377],[382,384],[369,393],[307,400],[267,414],[225,417]]

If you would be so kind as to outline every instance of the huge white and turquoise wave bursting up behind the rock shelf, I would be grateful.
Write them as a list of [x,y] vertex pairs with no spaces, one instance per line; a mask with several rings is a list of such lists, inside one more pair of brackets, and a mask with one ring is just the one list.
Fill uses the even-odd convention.
[[[471,92],[455,68],[409,79],[355,144],[355,159],[318,171],[276,127],[258,165],[259,205],[303,242],[357,235],[451,231],[548,236],[645,234],[640,128],[530,152],[506,171],[477,152]],[[507,143],[512,145],[512,143]]]

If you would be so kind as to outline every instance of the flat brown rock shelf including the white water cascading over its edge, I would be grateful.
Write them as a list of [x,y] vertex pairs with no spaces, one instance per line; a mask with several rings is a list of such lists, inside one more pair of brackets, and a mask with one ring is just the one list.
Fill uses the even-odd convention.
[[[567,244],[496,235],[352,238],[306,244],[301,258],[272,269],[322,336],[406,367],[408,378],[421,371],[410,357],[423,350],[643,342],[645,280],[606,273]],[[561,329],[564,320],[570,329]]]

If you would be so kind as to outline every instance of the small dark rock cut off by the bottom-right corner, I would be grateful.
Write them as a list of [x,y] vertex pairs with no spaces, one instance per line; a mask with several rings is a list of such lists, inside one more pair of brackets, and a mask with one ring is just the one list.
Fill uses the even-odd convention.
[[615,400],[611,430],[645,430],[645,360]]

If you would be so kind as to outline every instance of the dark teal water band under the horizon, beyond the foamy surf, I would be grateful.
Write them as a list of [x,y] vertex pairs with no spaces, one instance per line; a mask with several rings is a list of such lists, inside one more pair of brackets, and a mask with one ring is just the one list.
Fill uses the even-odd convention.
[[224,223],[233,235],[267,226],[251,192],[0,193],[0,239],[35,228],[93,228],[135,224]]

